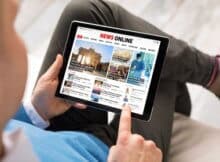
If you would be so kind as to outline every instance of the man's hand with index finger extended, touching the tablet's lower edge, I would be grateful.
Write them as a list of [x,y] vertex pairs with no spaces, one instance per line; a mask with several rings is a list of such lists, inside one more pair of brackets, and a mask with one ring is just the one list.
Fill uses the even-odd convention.
[[117,144],[109,152],[108,162],[161,162],[162,153],[154,142],[131,133],[131,111],[124,107],[121,114]]

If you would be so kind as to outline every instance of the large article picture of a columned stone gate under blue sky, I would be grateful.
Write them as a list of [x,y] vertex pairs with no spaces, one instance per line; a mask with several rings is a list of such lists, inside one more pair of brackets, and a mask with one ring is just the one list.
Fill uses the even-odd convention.
[[106,77],[113,47],[77,40],[72,50],[70,69]]

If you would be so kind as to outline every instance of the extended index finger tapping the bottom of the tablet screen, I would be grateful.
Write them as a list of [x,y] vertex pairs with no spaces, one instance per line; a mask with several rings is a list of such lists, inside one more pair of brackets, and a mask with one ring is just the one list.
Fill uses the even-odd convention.
[[120,136],[124,132],[131,133],[131,109],[129,106],[125,106],[121,112],[118,135]]

